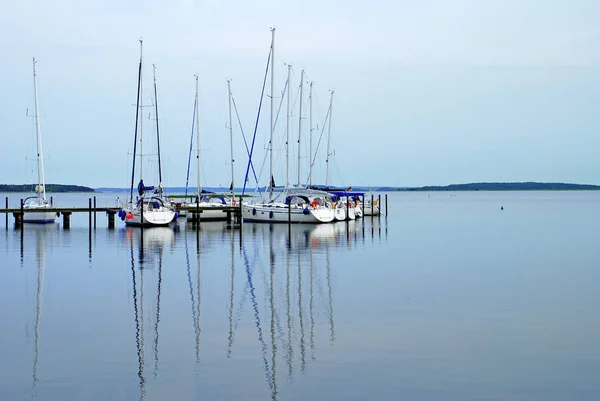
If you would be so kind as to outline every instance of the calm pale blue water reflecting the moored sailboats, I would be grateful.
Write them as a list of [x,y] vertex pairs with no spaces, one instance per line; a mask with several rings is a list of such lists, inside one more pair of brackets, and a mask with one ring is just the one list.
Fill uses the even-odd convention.
[[600,399],[600,192],[389,202],[291,235],[11,217],[0,399]]

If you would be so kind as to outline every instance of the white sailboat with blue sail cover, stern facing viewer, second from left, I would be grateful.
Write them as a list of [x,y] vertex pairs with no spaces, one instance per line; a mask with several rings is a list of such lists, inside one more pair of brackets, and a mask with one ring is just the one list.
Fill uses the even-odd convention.
[[[138,91],[136,101],[136,112],[135,112],[135,135],[133,144],[133,166],[131,171],[131,189],[129,196],[129,203],[125,208],[119,210],[118,215],[121,220],[125,221],[128,226],[165,226],[175,221],[178,217],[177,212],[170,207],[166,200],[162,196],[162,182],[159,182],[158,187],[155,189],[154,186],[147,186],[144,184],[143,179],[143,130],[142,123],[139,120],[140,110],[143,107],[142,101],[142,57],[143,41],[140,39],[140,64],[138,70]],[[156,76],[154,78],[154,95],[156,102]],[[157,111],[158,111],[158,106]],[[158,116],[157,116],[158,120]],[[140,142],[140,153],[139,153],[139,171],[140,171],[140,182],[137,185],[138,196],[135,201],[133,199],[133,183],[135,177],[135,159],[136,159],[136,145],[138,141],[138,128],[139,128],[139,142]],[[159,181],[162,181],[162,174],[160,171],[160,140],[158,135],[158,121],[157,121],[157,144],[158,144],[158,159],[159,159]]]

